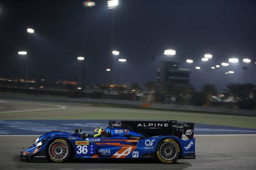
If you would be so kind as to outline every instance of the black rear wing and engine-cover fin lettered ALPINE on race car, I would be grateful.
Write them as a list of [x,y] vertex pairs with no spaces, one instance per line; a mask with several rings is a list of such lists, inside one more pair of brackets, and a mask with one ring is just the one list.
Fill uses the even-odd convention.
[[182,134],[189,139],[194,136],[194,123],[177,123],[176,120],[164,121],[109,121],[111,128],[125,128],[145,136],[172,135],[182,138]]

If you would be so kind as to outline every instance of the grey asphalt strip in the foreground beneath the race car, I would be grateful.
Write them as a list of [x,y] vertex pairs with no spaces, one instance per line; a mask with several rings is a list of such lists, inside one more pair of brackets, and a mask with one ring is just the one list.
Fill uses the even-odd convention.
[[152,160],[90,159],[67,163],[21,162],[21,147],[27,147],[37,136],[0,136],[1,170],[255,170],[255,135],[195,136],[196,159],[161,164]]

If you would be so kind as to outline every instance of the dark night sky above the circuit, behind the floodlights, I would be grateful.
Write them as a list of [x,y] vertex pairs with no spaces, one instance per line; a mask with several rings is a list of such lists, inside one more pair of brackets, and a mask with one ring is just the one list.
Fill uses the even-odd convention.
[[[0,77],[24,77],[25,57],[17,51],[26,51],[26,28],[32,27],[29,77],[78,81],[81,62],[76,58],[85,55],[87,83],[107,82],[113,9],[107,8],[107,0],[95,2],[86,17],[81,0],[2,0]],[[156,77],[160,61],[169,60],[191,69],[191,83],[199,88],[208,81],[209,66],[237,57],[239,63],[210,70],[210,82],[219,89],[228,82],[244,83],[241,67],[246,65],[247,82],[256,84],[255,9],[255,0],[119,0],[114,48],[127,62],[113,59],[114,82],[143,84],[152,74]],[[163,54],[169,48],[176,50],[171,59]],[[202,62],[207,53],[213,58]],[[243,58],[252,62],[243,64]]]

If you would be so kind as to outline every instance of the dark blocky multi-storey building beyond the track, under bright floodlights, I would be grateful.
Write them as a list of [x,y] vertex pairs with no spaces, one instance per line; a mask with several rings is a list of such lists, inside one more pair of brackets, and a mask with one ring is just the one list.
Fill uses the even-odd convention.
[[157,83],[172,81],[175,84],[189,83],[189,69],[179,68],[178,62],[162,61],[157,69]]

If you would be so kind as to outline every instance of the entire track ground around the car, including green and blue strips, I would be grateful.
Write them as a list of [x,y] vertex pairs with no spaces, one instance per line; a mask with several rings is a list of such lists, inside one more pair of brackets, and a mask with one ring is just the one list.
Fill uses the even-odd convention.
[[[102,116],[105,112],[113,113],[110,119],[114,119],[119,114],[125,117],[128,113],[138,116],[133,119],[141,119],[145,117],[145,113],[149,115],[147,119],[151,119],[150,115],[156,115],[154,118],[158,119],[176,116],[184,122],[195,122],[193,119],[201,118],[201,122],[195,123],[196,159],[178,160],[175,164],[160,164],[143,159],[89,159],[74,160],[64,164],[20,161],[22,147],[31,146],[32,141],[49,130],[72,132],[73,129],[79,128],[80,117],[83,132],[90,132],[96,126],[106,127],[107,119],[99,120],[99,117],[95,117],[96,113]],[[87,116],[94,120],[85,120],[84,117]],[[122,116],[117,120],[121,118]],[[208,121],[208,124],[202,123],[204,121]],[[228,121],[229,126],[225,126]],[[239,121],[243,121],[243,125],[240,125]],[[97,108],[83,103],[6,100],[6,102],[0,102],[0,170],[254,170],[256,169],[255,122],[255,116],[172,113],[125,108]]]

